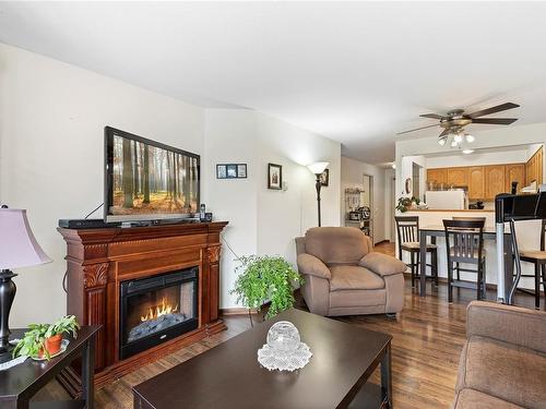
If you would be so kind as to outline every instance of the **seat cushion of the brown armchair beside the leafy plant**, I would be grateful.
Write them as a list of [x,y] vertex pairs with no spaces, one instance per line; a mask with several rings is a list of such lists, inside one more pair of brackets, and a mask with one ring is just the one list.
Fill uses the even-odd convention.
[[384,288],[383,279],[368,268],[353,265],[330,267],[332,280],[330,291],[339,290],[379,290]]

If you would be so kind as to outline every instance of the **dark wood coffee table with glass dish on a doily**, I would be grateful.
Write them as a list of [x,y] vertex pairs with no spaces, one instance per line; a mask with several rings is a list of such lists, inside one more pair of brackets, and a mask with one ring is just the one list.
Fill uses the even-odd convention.
[[[296,372],[268,371],[258,349],[277,321],[290,321],[312,352]],[[135,409],[391,407],[391,336],[299,310],[254,325],[133,387]],[[381,364],[381,386],[367,383]]]

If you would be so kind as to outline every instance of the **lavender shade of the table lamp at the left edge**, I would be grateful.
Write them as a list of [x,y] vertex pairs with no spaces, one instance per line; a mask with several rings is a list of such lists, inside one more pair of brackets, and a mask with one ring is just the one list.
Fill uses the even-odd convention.
[[49,263],[34,237],[26,210],[0,208],[0,269]]

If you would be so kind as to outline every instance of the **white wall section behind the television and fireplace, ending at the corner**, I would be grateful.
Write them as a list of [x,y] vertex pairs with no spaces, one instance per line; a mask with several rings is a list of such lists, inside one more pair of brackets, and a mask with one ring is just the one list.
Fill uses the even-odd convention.
[[0,44],[0,202],[28,210],[54,260],[17,272],[11,325],[23,326],[66,313],[57,222],[103,201],[104,127],[202,154],[203,109]]

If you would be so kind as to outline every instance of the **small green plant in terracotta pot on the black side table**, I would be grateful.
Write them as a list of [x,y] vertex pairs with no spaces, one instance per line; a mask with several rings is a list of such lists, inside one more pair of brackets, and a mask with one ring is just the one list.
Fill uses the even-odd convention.
[[80,325],[74,315],[67,315],[54,324],[29,324],[28,330],[13,349],[13,357],[25,356],[49,360],[61,350],[63,334],[78,336]]

